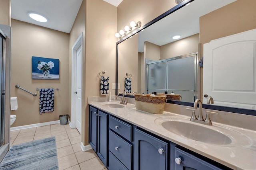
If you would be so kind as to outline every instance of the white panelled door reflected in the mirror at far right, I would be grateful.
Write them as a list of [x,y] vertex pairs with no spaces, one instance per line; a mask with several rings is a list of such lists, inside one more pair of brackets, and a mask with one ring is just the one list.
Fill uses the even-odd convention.
[[256,109],[256,29],[204,44],[203,103]]

